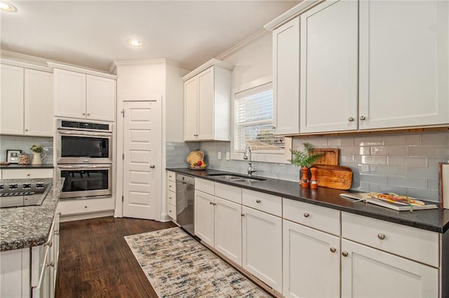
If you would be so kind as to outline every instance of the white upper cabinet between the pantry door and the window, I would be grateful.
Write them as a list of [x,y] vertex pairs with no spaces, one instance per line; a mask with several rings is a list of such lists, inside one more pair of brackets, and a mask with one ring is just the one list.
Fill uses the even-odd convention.
[[232,68],[212,59],[183,77],[185,141],[230,140]]

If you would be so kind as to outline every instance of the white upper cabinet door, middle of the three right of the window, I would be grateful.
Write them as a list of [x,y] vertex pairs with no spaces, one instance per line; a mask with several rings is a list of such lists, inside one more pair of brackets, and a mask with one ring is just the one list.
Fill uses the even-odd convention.
[[358,2],[301,15],[301,132],[357,129]]

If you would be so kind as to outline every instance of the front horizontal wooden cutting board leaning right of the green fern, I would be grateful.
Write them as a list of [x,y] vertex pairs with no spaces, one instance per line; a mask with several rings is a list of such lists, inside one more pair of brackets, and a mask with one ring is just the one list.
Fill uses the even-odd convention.
[[316,165],[318,186],[349,190],[352,184],[352,170],[347,166]]

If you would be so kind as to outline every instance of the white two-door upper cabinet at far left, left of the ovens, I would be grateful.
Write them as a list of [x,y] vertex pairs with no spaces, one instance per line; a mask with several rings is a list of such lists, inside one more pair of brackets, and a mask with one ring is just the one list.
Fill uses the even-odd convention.
[[53,136],[53,73],[1,64],[0,134]]

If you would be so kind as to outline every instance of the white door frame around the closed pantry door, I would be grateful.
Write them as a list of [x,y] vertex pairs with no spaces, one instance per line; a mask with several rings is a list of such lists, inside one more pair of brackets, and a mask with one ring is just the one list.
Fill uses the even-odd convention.
[[[163,101],[162,101],[162,95],[153,95],[153,96],[137,96],[137,97],[131,97],[131,96],[123,96],[122,98],[117,98],[117,113],[116,113],[116,131],[115,131],[115,138],[116,138],[116,203],[115,203],[115,210],[114,210],[114,218],[123,218],[123,169],[124,169],[124,160],[123,160],[123,154],[124,154],[124,146],[123,146],[123,140],[124,140],[124,121],[123,121],[123,114],[122,111],[124,111],[124,106],[126,102],[130,101],[160,101],[161,103],[161,144],[159,145],[160,152],[161,152],[161,166],[160,169],[156,169],[156,175],[159,175],[161,177],[160,182],[156,183],[156,218],[155,220],[161,221],[165,220],[163,218],[163,202],[165,195],[163,195],[162,190],[163,185],[165,183],[165,179],[163,179],[162,173],[163,169],[165,169],[166,162],[165,162],[165,156],[164,156],[164,148],[163,144],[165,144],[165,136],[164,136],[164,130],[165,130],[165,118],[163,117]],[[165,172],[165,170],[164,170]]]

